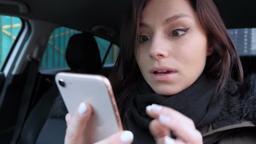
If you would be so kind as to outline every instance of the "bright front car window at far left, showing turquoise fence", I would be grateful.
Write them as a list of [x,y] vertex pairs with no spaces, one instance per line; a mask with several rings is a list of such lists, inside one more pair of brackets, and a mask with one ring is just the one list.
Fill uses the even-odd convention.
[[7,61],[21,28],[22,21],[19,17],[0,15],[0,69]]

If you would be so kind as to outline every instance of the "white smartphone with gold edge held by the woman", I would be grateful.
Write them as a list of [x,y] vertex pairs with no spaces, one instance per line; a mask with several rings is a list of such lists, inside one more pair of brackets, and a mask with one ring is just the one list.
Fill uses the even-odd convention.
[[92,105],[93,114],[84,134],[85,144],[101,141],[123,131],[112,86],[107,78],[102,75],[60,72],[55,81],[71,116],[83,101]]

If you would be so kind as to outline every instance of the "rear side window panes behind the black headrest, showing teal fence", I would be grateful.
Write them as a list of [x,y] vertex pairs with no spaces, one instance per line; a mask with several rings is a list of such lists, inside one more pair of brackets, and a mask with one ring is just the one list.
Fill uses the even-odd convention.
[[[59,27],[55,29],[49,37],[48,45],[44,52],[40,69],[68,68],[69,66],[67,65],[65,59],[66,48],[69,43],[69,38],[77,33],[82,32],[67,27]],[[104,60],[109,46],[111,45],[111,49],[104,64],[114,64],[119,52],[118,46],[100,37],[94,36],[94,38],[98,44],[102,61]]]

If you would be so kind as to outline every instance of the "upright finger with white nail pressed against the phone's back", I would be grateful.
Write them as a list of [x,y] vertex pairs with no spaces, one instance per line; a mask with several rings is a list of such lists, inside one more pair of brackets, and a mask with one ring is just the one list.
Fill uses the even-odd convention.
[[82,140],[82,133],[85,130],[86,124],[91,115],[91,105],[86,102],[82,102],[69,122],[69,126],[66,130],[65,143],[80,143],[79,140]]

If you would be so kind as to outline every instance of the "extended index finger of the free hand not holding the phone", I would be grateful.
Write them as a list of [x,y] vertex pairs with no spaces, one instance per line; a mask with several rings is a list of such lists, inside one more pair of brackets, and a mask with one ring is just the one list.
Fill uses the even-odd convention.
[[147,107],[147,113],[153,118],[158,118],[161,124],[174,131],[176,136],[186,143],[202,143],[202,135],[195,128],[194,122],[180,112],[160,105],[151,105]]

